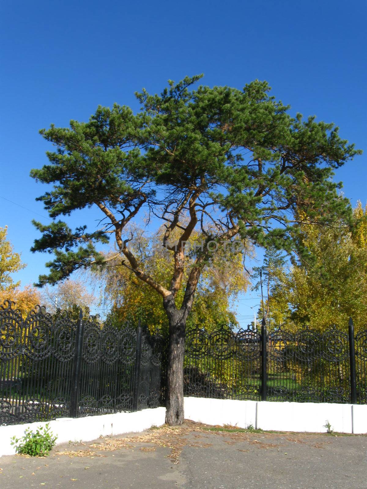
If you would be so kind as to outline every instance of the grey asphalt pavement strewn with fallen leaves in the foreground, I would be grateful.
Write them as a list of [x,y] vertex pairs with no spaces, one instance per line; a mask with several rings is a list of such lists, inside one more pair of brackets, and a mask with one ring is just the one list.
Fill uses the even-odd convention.
[[0,488],[367,489],[367,436],[210,431],[186,422],[0,458]]

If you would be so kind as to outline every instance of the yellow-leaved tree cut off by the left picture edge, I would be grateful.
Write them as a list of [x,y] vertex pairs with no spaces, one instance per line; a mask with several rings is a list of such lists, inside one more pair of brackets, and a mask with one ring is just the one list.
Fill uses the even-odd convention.
[[8,226],[0,227],[0,293],[8,293],[20,285],[14,282],[11,274],[26,267],[21,255],[14,253],[13,245],[6,239]]

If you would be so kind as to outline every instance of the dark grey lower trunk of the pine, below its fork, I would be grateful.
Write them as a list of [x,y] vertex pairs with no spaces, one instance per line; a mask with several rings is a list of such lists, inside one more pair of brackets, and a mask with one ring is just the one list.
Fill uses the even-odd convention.
[[184,346],[186,314],[176,309],[175,304],[165,304],[169,319],[166,423],[184,422]]

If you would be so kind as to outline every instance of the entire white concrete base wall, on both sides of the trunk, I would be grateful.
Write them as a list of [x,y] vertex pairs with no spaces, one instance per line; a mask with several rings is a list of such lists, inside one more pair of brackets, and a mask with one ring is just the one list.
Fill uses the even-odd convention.
[[[313,402],[265,402],[184,398],[185,419],[212,425],[230,424],[247,428],[274,431],[307,431],[322,433],[330,422],[334,431],[341,433],[367,433],[367,405],[331,404]],[[87,418],[59,418],[49,421],[51,431],[57,435],[56,445],[69,441],[89,442],[107,435],[139,432],[153,425],[164,424],[165,408],[144,409],[135,413],[116,413]],[[15,453],[10,445],[15,435],[21,438],[28,427],[34,431],[46,422],[0,426],[0,457]]]

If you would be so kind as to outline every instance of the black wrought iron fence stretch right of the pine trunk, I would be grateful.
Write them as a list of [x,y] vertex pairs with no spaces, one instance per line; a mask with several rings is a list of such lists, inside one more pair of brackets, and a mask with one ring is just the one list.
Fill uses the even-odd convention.
[[349,334],[196,328],[186,333],[184,395],[367,404],[367,331],[354,347],[352,325]]

